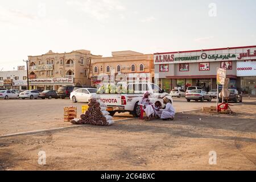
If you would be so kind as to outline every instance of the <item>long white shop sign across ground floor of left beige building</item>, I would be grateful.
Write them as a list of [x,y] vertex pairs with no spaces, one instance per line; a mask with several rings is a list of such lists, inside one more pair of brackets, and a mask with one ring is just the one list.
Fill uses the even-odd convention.
[[28,80],[30,84],[73,84],[73,78],[37,78]]

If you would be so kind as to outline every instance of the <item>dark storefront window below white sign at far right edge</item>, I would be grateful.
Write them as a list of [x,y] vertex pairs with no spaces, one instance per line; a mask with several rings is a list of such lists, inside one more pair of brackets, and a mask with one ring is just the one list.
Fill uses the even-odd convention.
[[241,91],[245,94],[256,95],[256,77],[241,77]]

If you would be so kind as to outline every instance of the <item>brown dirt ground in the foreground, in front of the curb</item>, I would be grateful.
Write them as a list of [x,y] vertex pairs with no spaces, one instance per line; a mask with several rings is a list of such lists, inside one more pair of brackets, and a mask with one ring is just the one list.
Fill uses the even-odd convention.
[[[236,114],[179,113],[0,138],[1,170],[256,170],[256,103]],[[46,152],[46,165],[38,152]],[[216,151],[217,164],[209,164]]]

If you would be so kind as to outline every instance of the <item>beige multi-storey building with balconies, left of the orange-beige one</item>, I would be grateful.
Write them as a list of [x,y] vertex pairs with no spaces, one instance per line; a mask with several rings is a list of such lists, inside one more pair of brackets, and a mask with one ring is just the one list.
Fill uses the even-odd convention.
[[84,49],[28,56],[30,89],[57,90],[63,85],[90,85],[91,59],[97,57],[102,56],[92,55]]

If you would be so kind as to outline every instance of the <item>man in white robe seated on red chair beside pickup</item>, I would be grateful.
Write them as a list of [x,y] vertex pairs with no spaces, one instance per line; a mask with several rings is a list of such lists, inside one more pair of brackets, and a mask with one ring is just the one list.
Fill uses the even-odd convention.
[[150,96],[150,93],[148,91],[146,91],[138,104],[138,105],[142,105],[142,107],[147,115],[147,118],[145,119],[146,121],[150,121],[150,119],[152,118],[152,115],[154,114],[154,109],[151,106],[152,103],[150,102],[149,96]]

